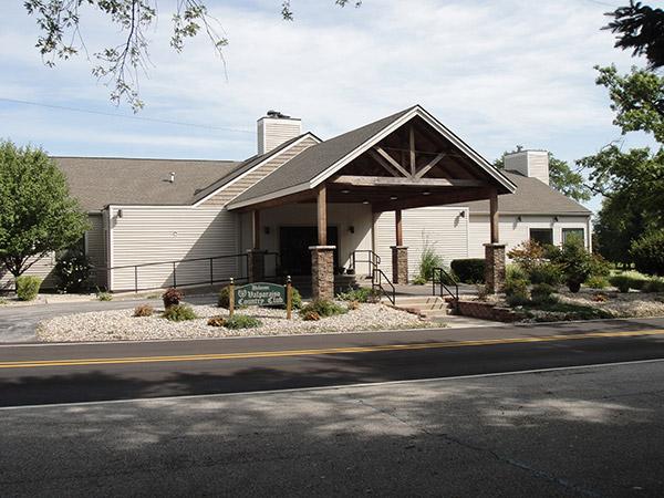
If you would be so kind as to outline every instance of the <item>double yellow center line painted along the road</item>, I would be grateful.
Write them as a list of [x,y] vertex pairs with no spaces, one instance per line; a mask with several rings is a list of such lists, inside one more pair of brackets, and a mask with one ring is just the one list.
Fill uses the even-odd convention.
[[31,360],[0,362],[0,369],[35,369],[43,366],[76,366],[76,365],[111,365],[124,363],[160,363],[160,362],[196,362],[214,360],[239,360],[239,359],[261,359],[261,357],[283,357],[283,356],[312,356],[321,354],[344,354],[344,353],[373,353],[384,351],[412,351],[412,350],[434,350],[447,347],[467,347],[483,346],[494,344],[520,344],[551,341],[573,341],[581,339],[603,339],[603,338],[635,338],[643,335],[661,335],[664,329],[623,331],[623,332],[588,332],[573,335],[542,335],[533,338],[502,338],[502,339],[479,339],[470,341],[447,341],[447,342],[424,342],[413,344],[386,344],[369,346],[347,346],[347,347],[323,347],[317,350],[284,350],[284,351],[255,351],[247,353],[218,353],[218,354],[181,354],[173,356],[126,356],[126,357],[92,357],[92,359],[69,359],[69,360]]

